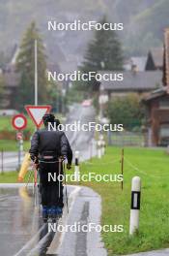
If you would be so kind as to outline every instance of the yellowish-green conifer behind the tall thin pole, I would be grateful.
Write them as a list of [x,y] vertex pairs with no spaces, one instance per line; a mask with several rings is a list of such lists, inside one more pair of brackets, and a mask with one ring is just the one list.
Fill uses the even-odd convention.
[[23,37],[16,59],[16,70],[20,74],[17,101],[20,109],[25,104],[34,104],[35,40],[38,42],[38,98],[40,104],[46,101],[47,79],[44,47],[36,23],[32,22]]

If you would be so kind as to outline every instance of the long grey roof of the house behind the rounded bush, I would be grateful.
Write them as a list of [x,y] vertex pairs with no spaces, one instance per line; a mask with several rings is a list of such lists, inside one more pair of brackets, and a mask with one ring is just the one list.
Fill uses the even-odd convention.
[[[118,72],[99,72],[100,74]],[[124,80],[100,81],[100,89],[110,91],[150,91],[155,90],[162,83],[161,71],[131,72],[125,71]]]

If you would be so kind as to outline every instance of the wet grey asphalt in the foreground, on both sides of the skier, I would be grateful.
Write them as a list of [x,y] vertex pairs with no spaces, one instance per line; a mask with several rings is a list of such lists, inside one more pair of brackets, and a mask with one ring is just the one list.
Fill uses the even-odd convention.
[[[32,188],[6,187],[0,193],[0,255],[5,256],[106,256],[98,232],[48,232]],[[64,209],[57,225],[99,224],[100,197],[92,189],[68,186],[69,214]],[[94,208],[95,206],[95,208]]]

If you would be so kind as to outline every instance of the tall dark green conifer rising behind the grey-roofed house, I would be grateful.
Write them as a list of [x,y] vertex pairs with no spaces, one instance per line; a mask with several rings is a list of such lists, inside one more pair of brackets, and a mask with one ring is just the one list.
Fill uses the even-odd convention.
[[[106,17],[100,20],[100,23],[107,23]],[[88,45],[84,62],[81,66],[83,73],[90,71],[122,71],[123,54],[120,41],[115,31],[97,30],[95,38]],[[82,82],[86,87],[99,90],[99,84],[96,80],[91,82]]]

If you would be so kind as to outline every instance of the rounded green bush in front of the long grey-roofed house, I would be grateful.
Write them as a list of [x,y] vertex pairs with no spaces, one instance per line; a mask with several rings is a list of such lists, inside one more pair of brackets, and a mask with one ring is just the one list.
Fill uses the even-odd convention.
[[130,94],[110,100],[107,106],[107,116],[110,123],[122,123],[125,129],[132,130],[141,126],[145,112],[139,97]]

